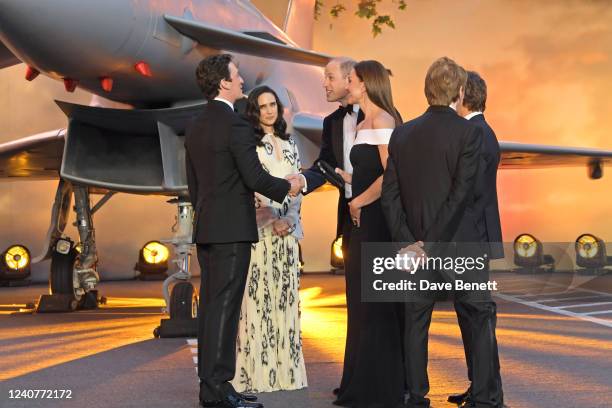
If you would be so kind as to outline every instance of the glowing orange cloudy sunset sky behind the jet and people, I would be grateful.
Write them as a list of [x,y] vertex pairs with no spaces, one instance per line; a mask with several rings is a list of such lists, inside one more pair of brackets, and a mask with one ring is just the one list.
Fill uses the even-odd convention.
[[[254,3],[282,22],[285,0]],[[425,72],[447,55],[487,81],[486,116],[500,140],[612,149],[609,2],[408,0],[407,9],[397,11],[385,0],[381,11],[391,12],[397,28],[377,38],[369,22],[351,16],[357,2],[344,3],[349,10],[342,17],[332,20],[324,12],[316,22],[314,49],[384,63],[394,73],[394,99],[404,119],[426,109]],[[48,78],[26,82],[24,70],[0,71],[0,142],[64,127],[55,98],[89,102],[87,93],[67,94]],[[501,171],[505,240],[521,232],[543,241],[574,241],[583,232],[612,240],[611,171],[604,169],[601,180],[589,180],[585,168]],[[0,183],[0,250],[14,242],[41,249],[55,185]],[[326,192],[304,200],[306,270],[329,269],[336,197]],[[129,275],[144,242],[169,237],[174,211],[162,198],[114,197],[95,217],[103,276]],[[37,276],[44,277],[46,268],[39,266]]]

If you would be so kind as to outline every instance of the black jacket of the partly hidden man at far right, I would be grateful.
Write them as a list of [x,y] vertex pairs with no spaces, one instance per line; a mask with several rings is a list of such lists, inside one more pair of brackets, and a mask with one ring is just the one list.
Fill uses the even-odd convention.
[[480,162],[480,176],[477,187],[477,207],[482,214],[479,228],[483,233],[485,242],[489,245],[490,259],[504,257],[504,246],[499,218],[499,205],[497,201],[497,168],[500,161],[500,150],[495,132],[484,115],[479,114],[470,119],[470,123],[480,127],[483,131],[482,158]]

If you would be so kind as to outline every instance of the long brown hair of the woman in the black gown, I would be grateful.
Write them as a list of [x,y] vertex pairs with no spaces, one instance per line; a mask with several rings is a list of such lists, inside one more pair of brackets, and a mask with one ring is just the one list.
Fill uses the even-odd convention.
[[378,61],[361,61],[355,64],[357,77],[365,83],[368,97],[380,109],[387,112],[395,119],[395,126],[402,124],[402,118],[393,105],[393,94],[391,93],[391,71]]

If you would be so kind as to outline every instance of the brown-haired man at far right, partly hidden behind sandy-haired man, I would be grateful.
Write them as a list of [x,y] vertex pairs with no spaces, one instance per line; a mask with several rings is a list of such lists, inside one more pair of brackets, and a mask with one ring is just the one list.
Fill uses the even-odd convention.
[[[480,214],[477,218],[477,226],[482,232],[482,241],[486,242],[488,245],[487,255],[489,259],[501,259],[504,257],[504,247],[502,244],[501,222],[499,219],[499,207],[497,202],[497,168],[500,160],[499,143],[495,136],[495,132],[491,129],[484,117],[487,103],[487,84],[484,79],[474,71],[468,71],[467,75],[465,96],[463,98],[463,103],[457,108],[457,113],[480,127],[483,131],[482,157],[480,161],[481,171],[477,182],[475,199],[477,213]],[[471,383],[471,327],[470,321],[467,318],[468,313],[464,310],[464,306],[462,302],[455,302],[457,320],[459,322],[459,328],[461,329],[463,348],[465,350],[465,361],[468,367],[468,378]],[[493,308],[492,327],[493,331],[495,331],[497,324],[497,305],[492,300],[491,307]],[[495,342],[495,356],[498,356],[497,342]],[[501,392],[499,358],[496,358],[494,363],[494,371],[497,374],[497,381],[499,382],[499,390]],[[470,385],[465,392],[450,395],[448,397],[448,402],[459,405],[463,404],[465,401],[469,401],[471,389],[472,387]],[[500,395],[500,400],[503,400],[503,395]]]

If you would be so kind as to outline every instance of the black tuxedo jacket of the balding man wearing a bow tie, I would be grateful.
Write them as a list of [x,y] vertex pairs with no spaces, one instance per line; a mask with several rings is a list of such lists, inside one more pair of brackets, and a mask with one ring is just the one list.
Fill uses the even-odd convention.
[[[344,116],[345,111],[338,108],[323,119],[323,133],[321,135],[321,151],[317,160],[324,160],[332,167],[344,168]],[[357,123],[363,120],[363,112],[357,114]],[[302,172],[306,178],[308,194],[325,184],[325,176],[319,168],[313,165]],[[338,220],[336,223],[336,236],[342,234],[342,227],[348,213],[348,200],[344,191],[340,191],[338,198]]]

